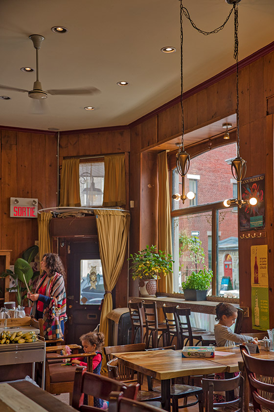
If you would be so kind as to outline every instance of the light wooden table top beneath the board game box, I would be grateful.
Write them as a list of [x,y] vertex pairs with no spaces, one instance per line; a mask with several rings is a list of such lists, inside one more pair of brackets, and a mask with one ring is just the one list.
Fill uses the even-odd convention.
[[[238,346],[217,347],[215,351],[214,358],[206,359],[182,358],[181,350],[128,352],[113,355],[124,365],[160,380],[179,376],[239,371],[238,362],[242,362],[243,359]],[[226,355],[219,355],[218,352]],[[274,352],[261,350],[260,354],[252,356],[274,360]]]

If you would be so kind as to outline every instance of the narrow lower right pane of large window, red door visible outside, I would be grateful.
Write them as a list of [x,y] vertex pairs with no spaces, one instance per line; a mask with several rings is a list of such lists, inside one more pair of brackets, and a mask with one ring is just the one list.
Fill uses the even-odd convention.
[[216,213],[217,296],[239,297],[238,210],[219,209]]

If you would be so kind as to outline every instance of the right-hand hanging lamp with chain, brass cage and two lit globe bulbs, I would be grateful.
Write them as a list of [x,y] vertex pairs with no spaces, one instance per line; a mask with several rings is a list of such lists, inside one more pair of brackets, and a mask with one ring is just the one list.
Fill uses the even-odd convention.
[[234,59],[236,60],[236,98],[237,98],[237,108],[236,108],[236,118],[237,118],[237,157],[231,160],[231,172],[233,178],[237,181],[237,198],[236,199],[226,199],[224,201],[224,206],[229,207],[230,205],[237,205],[240,208],[243,205],[250,204],[252,206],[256,205],[257,199],[251,198],[249,200],[242,199],[242,180],[246,176],[247,162],[240,157],[240,137],[239,137],[239,65],[238,65],[238,3],[241,0],[226,0],[228,4],[233,4],[234,10]]

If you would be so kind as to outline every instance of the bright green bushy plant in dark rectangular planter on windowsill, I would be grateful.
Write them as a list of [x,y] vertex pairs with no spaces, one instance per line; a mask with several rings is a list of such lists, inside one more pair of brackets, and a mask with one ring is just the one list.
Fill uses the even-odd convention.
[[182,282],[184,299],[194,301],[206,300],[206,293],[210,286],[212,276],[212,270],[207,269],[206,266],[197,272],[191,272],[185,282]]

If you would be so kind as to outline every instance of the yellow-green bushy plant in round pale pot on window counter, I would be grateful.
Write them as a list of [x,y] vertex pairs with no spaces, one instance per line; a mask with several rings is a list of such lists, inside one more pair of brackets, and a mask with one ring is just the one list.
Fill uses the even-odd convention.
[[156,246],[146,246],[145,249],[130,255],[132,261],[133,279],[139,280],[141,296],[155,296],[157,291],[157,279],[172,272],[172,256],[158,251]]

